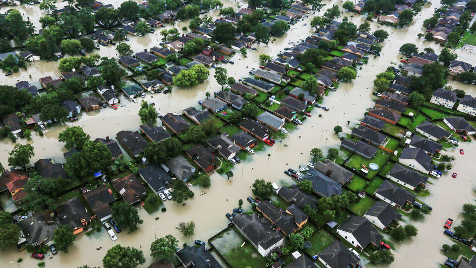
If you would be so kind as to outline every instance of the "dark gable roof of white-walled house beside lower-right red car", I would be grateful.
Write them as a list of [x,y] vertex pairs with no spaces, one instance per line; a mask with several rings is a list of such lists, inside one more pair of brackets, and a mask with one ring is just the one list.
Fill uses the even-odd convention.
[[378,245],[383,238],[370,221],[356,215],[351,215],[337,229],[353,234],[362,248],[367,247],[370,243]]

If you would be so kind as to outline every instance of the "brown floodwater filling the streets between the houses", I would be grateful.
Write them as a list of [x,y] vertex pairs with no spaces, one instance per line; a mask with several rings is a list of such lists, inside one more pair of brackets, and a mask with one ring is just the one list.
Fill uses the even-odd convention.
[[[161,237],[173,234],[180,240],[179,245],[184,242],[193,243],[193,239],[207,240],[228,224],[225,214],[238,205],[238,200],[244,200],[247,196],[252,195],[250,185],[255,179],[265,179],[276,182],[278,185],[293,183],[289,177],[283,174],[283,170],[289,167],[297,168],[300,164],[307,163],[311,148],[320,147],[327,152],[329,148],[339,146],[339,137],[333,134],[334,126],[341,125],[344,128],[344,133],[350,133],[349,127],[355,126],[363,117],[366,109],[372,107],[372,81],[377,73],[385,70],[391,63],[397,64],[400,61],[398,49],[402,44],[415,43],[421,50],[425,47],[432,47],[439,53],[439,46],[433,42],[425,42],[416,37],[416,34],[421,32],[422,21],[432,15],[434,6],[439,5],[437,0],[432,2],[433,5],[424,8],[420,12],[421,15],[416,17],[417,21],[408,28],[394,29],[377,23],[371,23],[372,32],[377,28],[382,28],[390,33],[388,40],[383,43],[381,57],[370,58],[369,64],[363,66],[358,71],[357,79],[351,83],[341,83],[336,92],[329,93],[329,96],[323,102],[323,105],[330,108],[328,112],[314,110],[312,117],[308,118],[303,125],[290,133],[288,139],[281,143],[276,143],[265,151],[257,152],[238,164],[233,169],[235,176],[232,180],[228,181],[225,176],[214,173],[211,176],[212,186],[209,189],[193,187],[192,191],[194,191],[195,197],[186,201],[186,206],[166,201],[166,212],[157,212],[149,215],[139,207],[139,214],[144,223],[132,234],[120,233],[118,235],[119,239],[116,242],[111,241],[108,234],[104,231],[90,237],[80,234],[76,237],[74,246],[70,249],[69,254],[59,253],[53,259],[46,260],[48,267],[78,267],[86,264],[100,266],[106,251],[117,243],[120,243],[122,246],[140,248],[144,251],[147,262],[143,267],[147,267],[154,262],[150,258],[149,247],[155,236]],[[113,4],[118,6],[116,3]],[[224,3],[225,6],[235,5],[234,1],[229,0],[225,0]],[[324,7],[324,10],[318,13],[323,13],[333,3],[342,5],[341,1],[332,1]],[[243,5],[246,4],[243,3]],[[22,7],[17,8],[23,10]],[[350,16],[353,13],[345,12],[344,14]],[[213,11],[213,17],[216,18],[217,16],[218,11]],[[221,66],[226,67],[228,74],[236,79],[247,76],[250,68],[258,66],[259,54],[269,54],[275,57],[285,47],[291,46],[288,44],[289,41],[296,42],[311,34],[313,31],[310,27],[311,19],[312,16],[298,22],[283,37],[270,42],[269,46],[264,44],[254,45],[258,51],[248,50],[247,58],[243,58],[240,54],[233,56],[232,60],[235,61],[235,65],[222,64]],[[365,17],[355,16],[351,20],[359,25],[365,21]],[[303,26],[303,23],[307,23],[307,26]],[[178,29],[181,29],[183,26],[188,27],[188,21],[179,22],[176,26]],[[160,38],[158,35],[147,34],[145,37],[130,37],[130,42],[128,43],[132,46],[134,52],[139,52],[158,45],[161,42]],[[100,54],[113,57],[116,51],[110,45],[108,48],[101,47]],[[38,67],[38,70],[30,73],[32,68],[36,67]],[[28,72],[15,74],[18,75],[16,77],[14,75],[12,75],[14,77],[8,76],[6,79],[2,79],[2,83],[15,84],[17,79],[25,79],[23,77],[28,77],[28,74],[32,74],[34,80],[37,81],[38,78],[45,75],[58,76],[60,73],[56,63],[36,62],[32,63]],[[203,84],[188,90],[174,87],[172,94],[167,95],[147,94],[145,100],[154,102],[156,109],[161,114],[168,112],[181,113],[181,110],[184,108],[190,106],[198,107],[197,101],[205,98],[205,92],[213,93],[220,89],[220,86],[213,78],[213,74],[214,71],[210,68],[210,77]],[[30,81],[29,77],[25,80]],[[455,88],[465,89],[470,94],[476,94],[476,87],[474,86],[463,85],[458,82],[451,82],[450,84]],[[129,102],[122,97],[118,110],[108,108],[82,113],[79,121],[49,128],[44,132],[45,135],[43,137],[34,134],[33,140],[28,141],[35,147],[35,156],[31,162],[34,163],[40,158],[53,158],[55,161],[64,161],[62,155],[64,152],[63,144],[57,140],[57,137],[68,126],[83,127],[85,132],[91,135],[92,139],[106,135],[115,137],[116,133],[121,130],[138,130],[141,124],[137,116],[139,106],[140,104]],[[318,117],[319,114],[322,114],[321,118]],[[351,122],[349,127],[347,127],[347,121]],[[26,142],[25,139],[18,141],[20,143]],[[455,219],[456,224],[458,224],[457,213],[460,211],[461,205],[474,199],[472,191],[474,183],[470,178],[471,171],[467,167],[471,166],[470,159],[474,157],[475,144],[475,142],[462,143],[462,148],[466,151],[464,156],[456,155],[456,150],[450,152],[457,156],[453,170],[459,173],[458,178],[453,179],[450,175],[444,175],[439,180],[431,180],[433,184],[428,186],[431,195],[423,199],[423,201],[430,204],[433,207],[433,211],[423,222],[412,222],[418,228],[419,234],[416,238],[397,245],[394,251],[395,263],[391,267],[409,267],[409,264],[411,267],[436,267],[438,262],[443,261],[443,255],[439,249],[444,243],[450,244],[450,241],[442,234],[441,223],[446,218],[452,217]],[[6,164],[8,152],[13,146],[14,144],[9,140],[1,141],[1,163]],[[451,198],[446,198],[445,194],[447,193],[453,194]],[[458,194],[454,195],[454,193]],[[245,207],[247,205],[245,204]],[[154,220],[156,216],[160,217],[157,221]],[[190,220],[196,223],[195,236],[193,238],[184,238],[175,229],[175,226],[179,222]],[[431,242],[428,243],[429,241]],[[98,246],[103,247],[100,252],[95,250]],[[16,264],[10,264],[9,262],[15,261],[18,258],[23,258],[23,262],[20,264],[22,267],[36,267],[37,261],[31,259],[26,252],[19,253],[16,250],[0,252],[0,265],[13,268]]]

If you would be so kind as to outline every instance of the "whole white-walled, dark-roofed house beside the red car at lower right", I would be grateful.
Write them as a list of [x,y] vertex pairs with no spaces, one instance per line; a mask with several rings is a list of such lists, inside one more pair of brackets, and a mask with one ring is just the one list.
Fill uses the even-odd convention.
[[368,245],[377,246],[383,238],[370,221],[356,215],[351,215],[346,222],[339,225],[336,232],[357,250],[363,250]]

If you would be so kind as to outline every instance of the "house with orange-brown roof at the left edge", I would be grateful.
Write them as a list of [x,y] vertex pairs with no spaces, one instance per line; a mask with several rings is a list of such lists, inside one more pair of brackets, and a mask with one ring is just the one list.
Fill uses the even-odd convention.
[[12,170],[1,177],[0,192],[8,190],[11,195],[11,200],[15,203],[19,203],[26,197],[26,191],[23,187],[29,179],[28,173],[23,170]]

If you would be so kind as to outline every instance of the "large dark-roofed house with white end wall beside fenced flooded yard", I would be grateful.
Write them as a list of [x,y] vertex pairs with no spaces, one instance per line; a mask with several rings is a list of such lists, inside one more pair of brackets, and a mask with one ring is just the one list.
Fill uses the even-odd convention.
[[232,218],[232,222],[263,257],[284,243],[284,235],[274,229],[273,224],[264,217],[239,213]]

